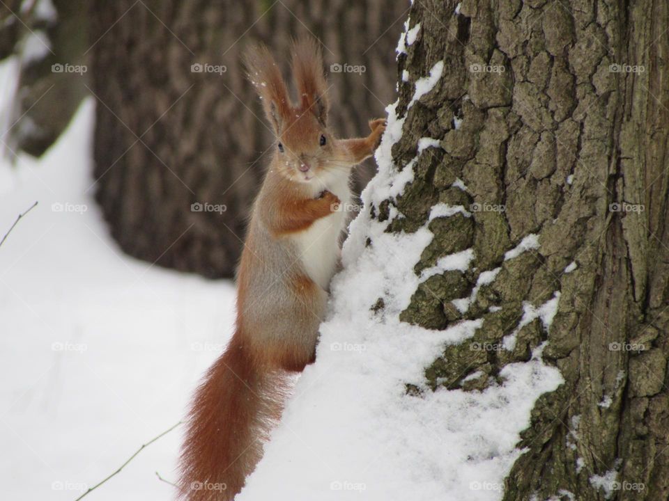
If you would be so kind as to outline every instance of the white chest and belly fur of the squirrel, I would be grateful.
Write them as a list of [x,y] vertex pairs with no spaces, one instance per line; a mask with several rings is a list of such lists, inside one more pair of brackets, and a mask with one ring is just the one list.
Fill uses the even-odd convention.
[[337,176],[328,183],[327,189],[341,200],[337,212],[330,216],[314,221],[305,231],[300,232],[295,239],[302,267],[309,278],[328,289],[330,279],[337,267],[339,258],[339,236],[346,224],[346,209],[351,205],[351,190],[348,188],[348,176]]

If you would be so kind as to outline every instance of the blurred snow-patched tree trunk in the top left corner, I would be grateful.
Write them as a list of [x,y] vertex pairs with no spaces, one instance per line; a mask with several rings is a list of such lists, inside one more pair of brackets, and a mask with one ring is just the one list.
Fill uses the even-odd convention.
[[43,154],[88,93],[87,73],[52,68],[84,64],[87,23],[84,0],[9,0],[0,5],[0,59],[15,54],[21,65],[15,109],[5,121],[20,120],[3,138],[11,157],[19,151]]

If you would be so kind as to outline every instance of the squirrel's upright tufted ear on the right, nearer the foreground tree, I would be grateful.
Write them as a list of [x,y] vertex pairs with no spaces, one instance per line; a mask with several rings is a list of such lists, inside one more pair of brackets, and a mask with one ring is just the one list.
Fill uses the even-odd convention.
[[300,98],[300,111],[311,111],[318,121],[328,122],[328,84],[323,74],[323,56],[318,42],[302,37],[293,42],[293,78]]

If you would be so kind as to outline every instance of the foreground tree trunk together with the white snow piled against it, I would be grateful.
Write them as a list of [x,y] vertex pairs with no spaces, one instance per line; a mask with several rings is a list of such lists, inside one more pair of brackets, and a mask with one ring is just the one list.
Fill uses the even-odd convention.
[[621,8],[413,3],[316,364],[241,500],[668,497],[669,8]]

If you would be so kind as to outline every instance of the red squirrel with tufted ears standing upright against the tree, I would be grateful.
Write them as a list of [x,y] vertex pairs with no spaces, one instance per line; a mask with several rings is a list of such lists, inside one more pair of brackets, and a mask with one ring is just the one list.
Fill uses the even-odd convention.
[[298,104],[266,47],[246,57],[277,142],[237,271],[236,330],[192,400],[178,485],[188,501],[232,500],[241,491],[281,415],[289,373],[314,361],[351,168],[374,153],[385,130],[377,119],[369,136],[337,139],[316,41],[298,40],[292,54]]

